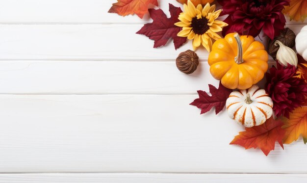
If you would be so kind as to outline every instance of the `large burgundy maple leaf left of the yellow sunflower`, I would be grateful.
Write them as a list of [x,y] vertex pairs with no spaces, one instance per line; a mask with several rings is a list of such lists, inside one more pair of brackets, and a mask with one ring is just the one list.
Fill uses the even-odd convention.
[[186,42],[186,37],[179,37],[177,33],[181,31],[181,27],[174,24],[179,22],[178,16],[182,12],[179,7],[169,4],[171,18],[167,18],[161,9],[149,9],[149,14],[153,19],[153,23],[145,24],[137,34],[144,34],[154,40],[153,48],[166,45],[170,38],[174,39],[175,49],[177,50]]

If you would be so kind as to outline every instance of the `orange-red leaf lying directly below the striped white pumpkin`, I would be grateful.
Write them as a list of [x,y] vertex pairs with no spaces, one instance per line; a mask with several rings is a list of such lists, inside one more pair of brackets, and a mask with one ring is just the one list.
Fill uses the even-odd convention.
[[270,151],[275,149],[275,142],[278,141],[282,145],[282,139],[285,131],[281,128],[282,121],[269,118],[264,124],[245,128],[245,131],[239,132],[230,144],[240,145],[245,149],[260,148],[261,151],[268,156]]

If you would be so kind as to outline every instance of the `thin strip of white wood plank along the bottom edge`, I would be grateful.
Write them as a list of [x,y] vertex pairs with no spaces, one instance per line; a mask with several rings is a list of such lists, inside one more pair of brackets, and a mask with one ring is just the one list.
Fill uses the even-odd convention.
[[0,174],[0,183],[306,183],[306,174]]

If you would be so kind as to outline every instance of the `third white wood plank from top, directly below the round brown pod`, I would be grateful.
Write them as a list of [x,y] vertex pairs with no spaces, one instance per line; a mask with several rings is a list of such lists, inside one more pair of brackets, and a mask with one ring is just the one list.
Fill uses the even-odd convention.
[[196,94],[218,83],[207,62],[185,75],[175,61],[0,61],[0,94]]

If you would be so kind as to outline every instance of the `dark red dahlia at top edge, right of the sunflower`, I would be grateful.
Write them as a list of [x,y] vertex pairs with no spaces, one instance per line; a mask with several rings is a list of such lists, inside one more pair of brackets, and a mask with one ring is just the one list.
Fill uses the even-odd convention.
[[261,29],[273,39],[285,26],[281,13],[289,0],[217,0],[223,6],[222,15],[229,15],[224,22],[223,35],[230,32],[256,37]]

